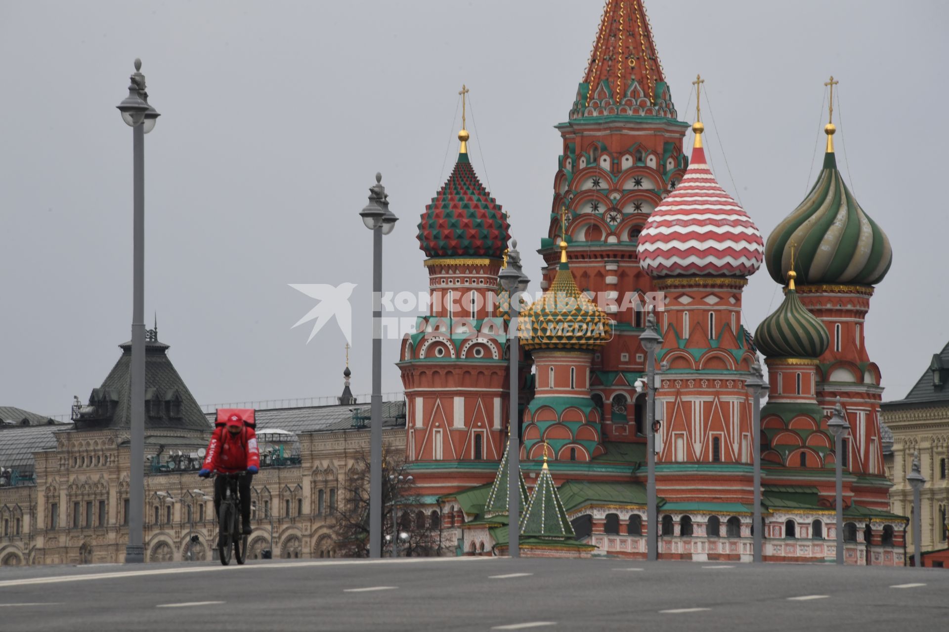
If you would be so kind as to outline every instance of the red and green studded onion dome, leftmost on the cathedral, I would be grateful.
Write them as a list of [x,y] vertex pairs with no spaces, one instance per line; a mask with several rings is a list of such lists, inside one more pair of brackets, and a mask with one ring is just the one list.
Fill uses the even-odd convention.
[[465,147],[468,133],[461,132],[464,138],[455,169],[421,215],[419,247],[428,258],[501,259],[510,226],[501,206],[477,179]]

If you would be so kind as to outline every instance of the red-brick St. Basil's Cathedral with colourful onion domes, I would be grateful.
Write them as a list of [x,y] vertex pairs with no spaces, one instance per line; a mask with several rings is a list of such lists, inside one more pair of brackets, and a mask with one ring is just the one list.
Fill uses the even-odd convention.
[[[889,512],[883,388],[864,327],[889,241],[837,170],[832,122],[817,181],[765,240],[717,183],[697,115],[691,126],[679,120],[642,2],[607,0],[556,126],[563,153],[538,250],[544,295],[519,319],[522,554],[644,558],[650,533],[661,559],[751,560],[760,450],[764,559],[832,562],[828,419],[839,402],[849,424],[845,559],[902,566],[907,520]],[[491,554],[508,546],[513,426],[498,273],[519,254],[474,172],[469,133],[458,137],[455,168],[419,222],[431,312],[403,339],[398,366],[422,502],[442,513],[446,545]],[[742,294],[762,262],[784,300],[755,326],[742,322]],[[661,335],[656,525],[646,520],[636,388],[650,314]],[[758,353],[770,393],[755,445],[746,381]]]

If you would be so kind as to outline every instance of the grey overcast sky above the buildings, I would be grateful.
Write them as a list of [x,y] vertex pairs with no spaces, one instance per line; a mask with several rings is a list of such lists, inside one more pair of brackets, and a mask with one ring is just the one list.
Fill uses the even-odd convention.
[[[0,404],[68,413],[129,338],[132,134],[115,105],[135,57],[162,114],[146,136],[147,320],[158,311],[159,338],[197,400],[339,393],[344,336],[330,324],[306,344],[309,327],[291,330],[314,301],[288,283],[359,283],[350,364],[363,393],[371,236],[357,213],[374,173],[401,218],[385,238],[386,288],[424,291],[415,226],[454,161],[450,128],[467,83],[475,169],[512,212],[536,288],[560,151],[552,126],[567,118],[602,7],[0,3]],[[949,98],[947,6],[646,0],[646,9],[679,117],[695,116],[695,99],[686,104],[700,72],[718,180],[766,236],[816,175],[822,83],[841,81],[839,163],[895,251],[867,347],[884,399],[902,397],[949,339],[933,145]],[[745,323],[754,330],[778,299],[768,274],[756,274]],[[383,390],[399,390],[398,342],[383,352]]]

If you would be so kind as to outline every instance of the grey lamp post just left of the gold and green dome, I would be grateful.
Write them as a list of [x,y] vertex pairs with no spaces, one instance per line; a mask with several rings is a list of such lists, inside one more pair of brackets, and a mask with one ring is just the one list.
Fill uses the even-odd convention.
[[508,251],[507,265],[498,273],[498,280],[501,287],[508,294],[508,305],[510,308],[511,321],[508,325],[508,354],[510,366],[509,372],[509,427],[508,432],[508,555],[510,557],[521,556],[521,538],[520,538],[520,516],[521,516],[521,490],[520,490],[520,471],[521,471],[521,448],[518,438],[518,429],[520,427],[518,414],[517,395],[520,390],[520,380],[518,375],[520,355],[518,349],[518,324],[517,315],[520,313],[520,294],[527,290],[530,280],[521,269],[520,253],[517,251],[517,240],[511,241],[511,248]]

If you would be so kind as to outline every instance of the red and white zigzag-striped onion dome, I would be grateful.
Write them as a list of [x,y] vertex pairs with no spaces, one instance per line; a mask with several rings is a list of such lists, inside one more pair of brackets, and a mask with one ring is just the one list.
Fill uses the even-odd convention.
[[750,277],[764,259],[764,240],[696,147],[679,186],[643,226],[636,254],[650,277]]

